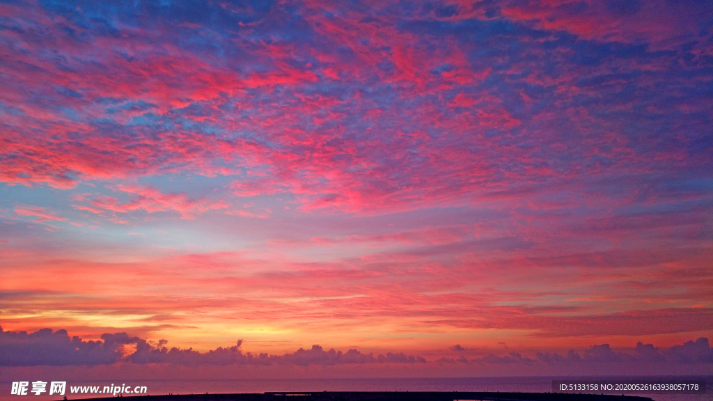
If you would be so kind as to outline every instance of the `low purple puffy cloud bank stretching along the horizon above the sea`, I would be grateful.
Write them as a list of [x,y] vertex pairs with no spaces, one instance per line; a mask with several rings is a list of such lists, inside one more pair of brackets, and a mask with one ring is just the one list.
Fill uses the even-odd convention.
[[[111,365],[118,362],[130,362],[135,365],[293,365],[293,366],[332,366],[366,364],[430,364],[438,365],[473,365],[487,367],[505,365],[520,367],[545,368],[568,367],[575,371],[586,372],[587,366],[606,365],[641,367],[652,365],[696,365],[704,370],[713,369],[713,350],[709,340],[701,337],[672,347],[655,347],[652,344],[638,342],[635,347],[626,350],[613,350],[608,344],[591,345],[564,354],[557,352],[535,352],[531,357],[521,352],[510,351],[502,354],[488,353],[479,357],[466,357],[470,350],[461,345],[449,347],[448,351],[460,354],[459,357],[440,357],[434,360],[404,352],[387,352],[374,355],[356,349],[346,352],[324,350],[319,345],[311,348],[299,348],[283,355],[253,353],[242,351],[242,340],[231,347],[217,347],[214,350],[198,352],[193,349],[166,347],[166,341],[148,342],[140,337],[126,333],[104,334],[101,341],[85,341],[78,337],[69,337],[66,330],[39,330],[35,333],[7,332],[0,328],[0,366],[70,366],[70,365]],[[446,351],[446,352],[448,352]],[[479,352],[483,352],[482,350]]]

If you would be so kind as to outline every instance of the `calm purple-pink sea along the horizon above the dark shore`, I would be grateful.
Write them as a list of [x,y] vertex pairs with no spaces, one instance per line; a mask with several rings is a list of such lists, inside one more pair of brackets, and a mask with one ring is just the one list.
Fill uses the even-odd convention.
[[[664,394],[632,393],[650,397],[654,401],[710,401],[713,400],[713,376],[685,377],[636,377],[645,380],[704,380],[705,394]],[[101,381],[67,382],[68,400],[80,400],[92,397],[111,397],[111,394],[78,394],[70,387],[105,387],[145,386],[148,395],[183,395],[217,393],[262,393],[262,392],[322,392],[322,391],[441,391],[441,392],[553,392],[553,380],[601,379],[612,377],[418,377],[418,378],[347,378],[347,379],[228,379],[228,380],[135,380],[132,382],[109,383]],[[0,400],[13,401],[48,401],[61,400],[62,396],[48,395],[47,392],[35,395],[12,395],[12,382],[0,381]],[[31,387],[31,385],[30,385]],[[115,387],[116,388],[116,387]],[[31,390],[31,388],[29,389]],[[48,390],[48,389],[47,389]],[[601,392],[594,392],[599,394]],[[621,392],[604,392],[621,394]],[[128,397],[124,393],[123,397]],[[129,399],[130,400],[130,399]]]

